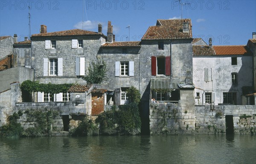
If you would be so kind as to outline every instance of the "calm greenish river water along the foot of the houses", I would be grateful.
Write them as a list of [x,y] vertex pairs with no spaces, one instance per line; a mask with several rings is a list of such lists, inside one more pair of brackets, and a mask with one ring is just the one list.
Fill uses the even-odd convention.
[[256,164],[256,135],[0,138],[0,164]]

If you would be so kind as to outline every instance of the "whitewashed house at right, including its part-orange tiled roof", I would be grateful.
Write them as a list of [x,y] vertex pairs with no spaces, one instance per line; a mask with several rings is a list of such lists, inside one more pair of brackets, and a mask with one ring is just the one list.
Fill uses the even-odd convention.
[[247,46],[193,46],[195,104],[247,104],[253,54]]

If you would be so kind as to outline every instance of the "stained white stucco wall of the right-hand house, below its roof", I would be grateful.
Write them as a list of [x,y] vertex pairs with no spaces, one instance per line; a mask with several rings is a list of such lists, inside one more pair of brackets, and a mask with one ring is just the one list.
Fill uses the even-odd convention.
[[[237,65],[231,65],[231,57],[237,57]],[[204,81],[204,69],[212,68],[212,81]],[[238,83],[232,84],[231,73],[238,73]],[[196,92],[200,93],[200,102],[203,104],[203,92],[215,92],[215,105],[223,103],[223,92],[237,92],[237,104],[242,104],[242,87],[253,84],[252,56],[200,56],[193,57],[193,83]],[[200,88],[200,89],[198,89]],[[202,90],[201,90],[202,89]]]

